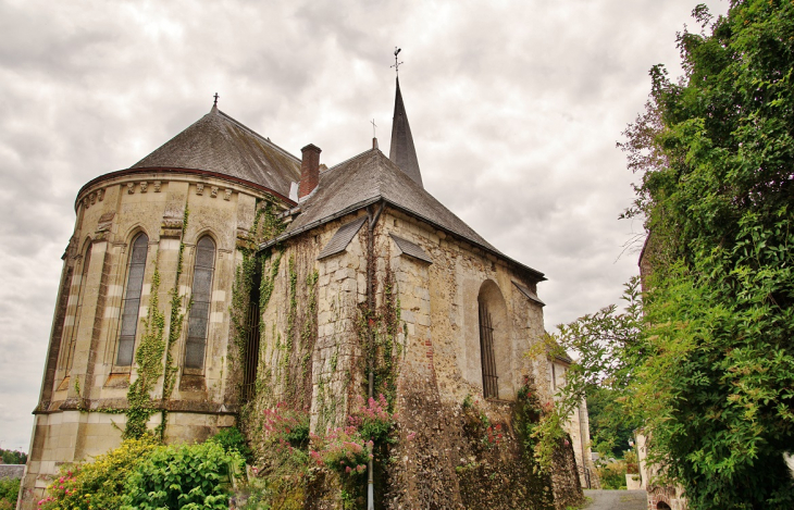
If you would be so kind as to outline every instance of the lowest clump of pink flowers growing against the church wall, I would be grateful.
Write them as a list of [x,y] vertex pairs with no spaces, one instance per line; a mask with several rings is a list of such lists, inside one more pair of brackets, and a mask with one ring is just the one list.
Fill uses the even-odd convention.
[[328,431],[324,436],[312,435],[311,439],[317,448],[309,450],[311,459],[318,465],[339,473],[363,473],[372,459],[374,443],[361,437],[361,433],[352,425]]

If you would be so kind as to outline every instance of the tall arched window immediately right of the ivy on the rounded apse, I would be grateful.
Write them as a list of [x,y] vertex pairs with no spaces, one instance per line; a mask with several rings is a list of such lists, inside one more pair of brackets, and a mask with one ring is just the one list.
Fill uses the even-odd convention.
[[185,345],[185,368],[204,366],[204,348],[210,319],[210,298],[212,295],[212,272],[215,268],[215,244],[204,236],[196,245],[196,264],[193,269],[193,304],[187,322],[187,344]]

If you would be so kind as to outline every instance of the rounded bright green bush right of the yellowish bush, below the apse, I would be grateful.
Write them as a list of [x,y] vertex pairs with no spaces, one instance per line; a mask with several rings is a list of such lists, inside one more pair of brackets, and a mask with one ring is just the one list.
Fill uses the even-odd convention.
[[160,447],[127,478],[121,508],[226,510],[231,470],[239,463],[215,441]]

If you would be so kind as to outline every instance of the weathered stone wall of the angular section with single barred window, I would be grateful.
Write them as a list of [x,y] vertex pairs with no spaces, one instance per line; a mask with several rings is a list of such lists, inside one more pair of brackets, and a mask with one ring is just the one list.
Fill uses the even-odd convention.
[[[363,214],[303,233],[265,256],[263,273],[275,277],[261,310],[261,384],[245,420],[253,441],[263,409],[280,401],[309,409],[315,433],[346,424],[352,399],[367,394],[369,335],[379,335],[374,329],[392,291],[399,312],[388,350],[394,363],[384,368],[386,354],[376,339],[381,364],[374,385],[397,413],[396,444],[379,447],[377,508],[565,509],[580,501],[570,443],[561,445],[553,476],[535,473],[526,448],[526,424],[538,418],[528,409],[551,398],[547,361],[523,356],[542,338],[543,313],[513,282],[534,291],[533,277],[390,208],[377,219],[372,238],[364,223],[344,251],[317,260],[342,225]],[[432,263],[404,253],[393,235],[419,246]],[[314,271],[315,316],[307,306]],[[483,398],[479,298],[489,300],[498,315],[498,399]],[[317,337],[309,344],[296,324],[313,321]],[[310,368],[305,368],[307,356]],[[532,396],[532,406],[519,401],[520,390]],[[338,478],[323,480],[307,487],[306,494],[314,495],[307,508],[342,505],[334,488]]]

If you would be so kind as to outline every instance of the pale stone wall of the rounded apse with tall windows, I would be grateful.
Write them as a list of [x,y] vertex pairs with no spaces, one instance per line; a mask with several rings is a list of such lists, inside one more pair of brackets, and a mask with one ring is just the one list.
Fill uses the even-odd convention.
[[[222,179],[173,174],[110,177],[82,191],[76,202],[74,235],[64,253],[22,508],[35,508],[61,463],[104,453],[121,443],[127,388],[137,372],[135,364],[116,366],[115,360],[131,242],[138,233],[145,233],[149,239],[140,318],[146,316],[151,298],[156,260],[161,277],[160,308],[169,310],[170,290],[176,287],[182,295],[190,293],[198,239],[209,235],[215,244],[204,365],[193,371],[182,368],[183,332],[172,349],[179,368],[176,384],[162,403],[170,410],[165,439],[203,439],[219,427],[234,424],[234,409],[223,407],[227,311],[237,262],[237,236],[245,236],[250,228],[258,196],[263,197],[257,190]],[[186,207],[188,226],[184,229]],[[183,273],[176,283],[181,239],[185,245]],[[83,281],[88,246],[90,262]],[[183,313],[186,303],[183,300]],[[168,312],[165,319],[168,331]],[[187,318],[184,325],[186,328]],[[136,345],[142,328],[139,322]],[[162,395],[162,381],[152,395]],[[160,413],[152,415],[148,426],[156,427],[160,420]]]

